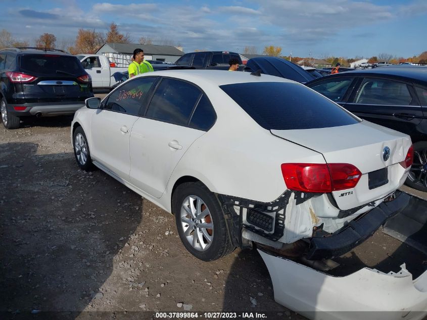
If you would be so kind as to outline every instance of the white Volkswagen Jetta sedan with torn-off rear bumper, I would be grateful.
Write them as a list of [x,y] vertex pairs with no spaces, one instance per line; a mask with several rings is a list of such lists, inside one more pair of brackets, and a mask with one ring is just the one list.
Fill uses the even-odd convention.
[[[253,242],[311,260],[341,255],[408,202],[406,134],[363,121],[312,89],[247,72],[169,70],[86,100],[75,158],[176,217],[209,261]],[[357,218],[357,219],[356,219]]]

